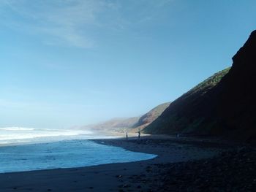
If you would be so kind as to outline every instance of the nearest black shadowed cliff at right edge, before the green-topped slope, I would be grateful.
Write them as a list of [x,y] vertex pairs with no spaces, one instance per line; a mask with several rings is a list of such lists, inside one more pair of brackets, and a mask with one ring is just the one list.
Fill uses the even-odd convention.
[[217,105],[214,120],[228,131],[228,137],[249,139],[256,136],[256,31],[238,53],[233,66],[215,89]]

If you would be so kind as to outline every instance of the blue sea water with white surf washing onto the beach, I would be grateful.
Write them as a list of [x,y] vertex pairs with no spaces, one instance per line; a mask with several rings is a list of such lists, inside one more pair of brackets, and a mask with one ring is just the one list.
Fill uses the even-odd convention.
[[89,131],[0,128],[0,172],[72,168],[142,161],[157,155],[100,145]]

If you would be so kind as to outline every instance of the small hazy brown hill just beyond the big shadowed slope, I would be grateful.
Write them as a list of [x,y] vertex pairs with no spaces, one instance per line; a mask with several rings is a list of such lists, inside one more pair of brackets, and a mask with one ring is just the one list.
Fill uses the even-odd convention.
[[137,123],[135,123],[132,128],[144,128],[148,126],[148,124],[152,123],[154,120],[156,120],[162,112],[166,110],[166,108],[170,105],[170,102],[159,104],[157,107],[154,107],[154,109],[147,112],[145,115],[143,115]]

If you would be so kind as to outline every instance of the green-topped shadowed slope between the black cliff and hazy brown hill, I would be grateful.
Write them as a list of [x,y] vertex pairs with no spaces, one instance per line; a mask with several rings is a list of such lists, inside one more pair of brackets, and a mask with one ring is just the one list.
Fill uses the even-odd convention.
[[203,112],[201,107],[207,108],[207,103],[200,103],[200,98],[214,88],[229,71],[230,67],[217,72],[184,93],[176,101],[173,101],[159,118],[146,126],[143,132],[146,134],[175,134],[195,131],[205,119],[201,113]]

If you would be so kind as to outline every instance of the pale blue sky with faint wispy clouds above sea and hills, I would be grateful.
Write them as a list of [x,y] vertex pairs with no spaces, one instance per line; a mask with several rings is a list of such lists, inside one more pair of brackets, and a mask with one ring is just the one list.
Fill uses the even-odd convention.
[[232,64],[256,1],[0,0],[0,127],[142,115]]

